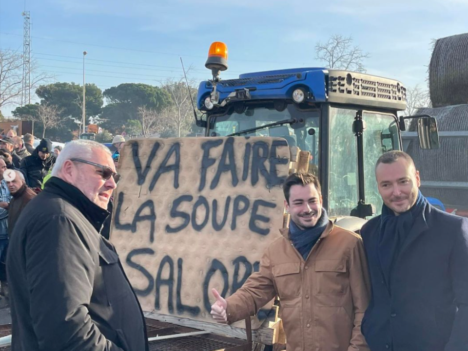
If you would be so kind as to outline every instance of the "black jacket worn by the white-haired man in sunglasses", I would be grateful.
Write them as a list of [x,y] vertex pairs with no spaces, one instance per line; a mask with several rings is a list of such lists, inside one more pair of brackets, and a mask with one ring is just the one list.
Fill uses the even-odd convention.
[[108,212],[52,177],[24,208],[7,257],[12,351],[144,351],[145,322]]

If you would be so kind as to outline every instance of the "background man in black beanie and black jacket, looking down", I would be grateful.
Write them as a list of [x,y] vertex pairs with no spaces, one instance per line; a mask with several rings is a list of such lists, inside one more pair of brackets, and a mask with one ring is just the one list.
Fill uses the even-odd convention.
[[49,139],[42,139],[32,155],[21,160],[20,170],[26,175],[26,184],[31,188],[40,188],[42,180],[54,166],[55,160],[52,142]]

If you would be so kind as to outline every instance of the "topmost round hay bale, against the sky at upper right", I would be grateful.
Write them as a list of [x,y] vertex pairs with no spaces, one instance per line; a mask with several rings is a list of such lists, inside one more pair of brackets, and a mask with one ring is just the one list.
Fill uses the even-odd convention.
[[468,103],[468,33],[438,39],[429,64],[432,107]]

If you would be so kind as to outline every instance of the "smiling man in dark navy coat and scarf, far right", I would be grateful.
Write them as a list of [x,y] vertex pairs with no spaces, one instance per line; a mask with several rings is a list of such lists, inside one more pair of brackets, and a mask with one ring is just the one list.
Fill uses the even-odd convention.
[[401,151],[375,167],[382,215],[361,235],[372,296],[361,330],[372,351],[468,350],[468,220],[432,207]]

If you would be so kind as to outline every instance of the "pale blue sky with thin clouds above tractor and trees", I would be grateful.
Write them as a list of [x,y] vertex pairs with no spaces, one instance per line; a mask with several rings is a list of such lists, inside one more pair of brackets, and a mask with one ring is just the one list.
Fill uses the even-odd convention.
[[[191,78],[210,78],[212,41],[228,45],[225,79],[321,67],[314,47],[331,34],[370,53],[368,73],[426,86],[432,39],[468,32],[468,0],[26,0],[26,9],[39,69],[81,83],[87,51],[86,82],[102,90],[180,77],[179,56]],[[0,0],[1,49],[22,51],[23,10],[23,0]]]

